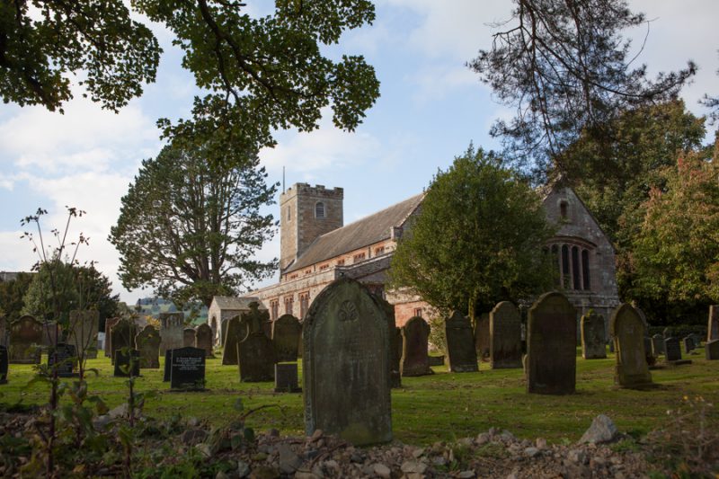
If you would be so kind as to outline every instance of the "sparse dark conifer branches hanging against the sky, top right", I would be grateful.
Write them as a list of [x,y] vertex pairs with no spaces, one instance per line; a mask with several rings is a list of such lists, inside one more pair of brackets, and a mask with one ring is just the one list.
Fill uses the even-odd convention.
[[480,50],[469,67],[492,87],[514,119],[497,121],[493,135],[506,154],[545,172],[550,161],[588,132],[622,111],[675,98],[696,66],[655,80],[644,66],[632,68],[625,29],[646,22],[626,0],[514,0],[510,19],[497,25],[493,47]]

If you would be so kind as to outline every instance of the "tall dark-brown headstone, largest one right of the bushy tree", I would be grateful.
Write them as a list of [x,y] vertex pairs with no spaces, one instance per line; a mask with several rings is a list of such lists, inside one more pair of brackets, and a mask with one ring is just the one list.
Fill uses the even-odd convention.
[[529,308],[527,392],[573,394],[576,386],[577,313],[561,293],[545,293]]

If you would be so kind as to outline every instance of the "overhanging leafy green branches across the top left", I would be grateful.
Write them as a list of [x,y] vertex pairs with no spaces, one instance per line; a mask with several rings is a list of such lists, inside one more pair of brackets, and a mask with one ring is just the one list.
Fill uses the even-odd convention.
[[[160,49],[123,0],[0,2],[0,98],[57,110],[72,97],[68,78],[86,77],[93,101],[117,110],[155,80]],[[375,18],[368,0],[277,0],[255,18],[236,0],[132,0],[132,13],[172,31],[182,67],[203,90],[192,118],[162,120],[166,137],[196,144],[224,138],[244,150],[271,146],[273,129],[317,128],[325,106],[354,129],[379,95],[360,56],[325,58],[321,45]],[[136,15],[133,18],[142,18]]]

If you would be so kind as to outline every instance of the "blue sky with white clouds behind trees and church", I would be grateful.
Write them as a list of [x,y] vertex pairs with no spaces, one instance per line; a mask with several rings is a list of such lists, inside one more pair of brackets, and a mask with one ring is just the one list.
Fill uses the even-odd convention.
[[[245,3],[253,13],[272,5]],[[646,64],[650,75],[686,67],[689,59],[697,62],[698,74],[681,97],[689,111],[706,115],[698,100],[705,93],[719,95],[719,2],[633,0],[630,5],[651,20],[636,61]],[[491,47],[491,25],[509,18],[509,0],[377,0],[376,7],[372,25],[346,32],[340,45],[326,49],[330,58],[364,55],[375,67],[381,96],[363,124],[343,132],[333,128],[325,111],[320,129],[279,131],[278,145],[260,153],[270,182],[282,181],[284,167],[288,187],[296,182],[342,187],[345,224],[422,191],[470,142],[498,148],[488,131],[494,120],[511,116],[466,67],[479,49]],[[78,259],[96,262],[129,304],[152,295],[148,289],[122,287],[120,259],[107,236],[141,161],[163,146],[155,121],[189,118],[197,93],[191,74],[182,70],[182,53],[171,45],[171,33],[156,25],[154,31],[164,49],[156,82],[119,114],[82,98],[77,87],[64,115],[0,105],[0,271],[30,271],[37,261],[31,244],[21,238],[22,217],[45,208],[43,231],[64,230],[70,206],[86,212],[70,224],[69,237],[81,232],[89,237]],[[638,49],[646,33],[642,27],[626,36]],[[277,205],[268,211],[278,216]],[[276,235],[258,257],[279,253]]]

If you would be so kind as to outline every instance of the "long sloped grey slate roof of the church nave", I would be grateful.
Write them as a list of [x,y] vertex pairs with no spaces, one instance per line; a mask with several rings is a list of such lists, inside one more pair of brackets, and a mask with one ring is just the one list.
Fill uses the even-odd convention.
[[354,223],[319,236],[307,247],[305,253],[297,258],[297,262],[291,264],[287,271],[283,272],[300,270],[316,262],[323,262],[363,246],[389,239],[390,228],[402,226],[404,220],[420,206],[423,198],[424,193],[420,193],[389,208],[377,211],[373,215],[363,217]]

